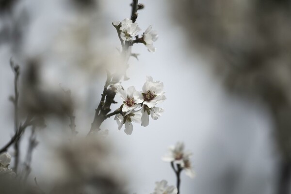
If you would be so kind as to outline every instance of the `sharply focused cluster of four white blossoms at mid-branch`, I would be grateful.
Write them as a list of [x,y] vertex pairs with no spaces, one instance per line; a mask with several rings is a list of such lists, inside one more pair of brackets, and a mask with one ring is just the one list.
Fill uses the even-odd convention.
[[[164,111],[162,108],[156,107],[166,99],[163,83],[153,81],[150,76],[146,78],[142,91],[136,91],[133,86],[130,86],[126,91],[118,87],[116,93],[120,95],[123,105],[122,113],[116,114],[114,119],[117,121],[118,129],[125,125],[125,133],[128,135],[132,133],[132,121],[146,127],[149,123],[149,115],[152,119],[157,120]],[[140,109],[136,110],[137,108]]]

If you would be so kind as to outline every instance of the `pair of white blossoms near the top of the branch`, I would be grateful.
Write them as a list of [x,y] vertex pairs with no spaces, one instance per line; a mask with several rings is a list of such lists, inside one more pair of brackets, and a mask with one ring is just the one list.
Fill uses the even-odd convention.
[[[131,19],[125,18],[124,20],[113,22],[113,26],[120,32],[120,38],[123,41],[131,41],[133,37],[137,35],[137,32],[141,31],[137,23],[133,23]],[[142,34],[141,38],[136,37],[138,42],[144,43],[150,52],[155,52],[156,48],[153,43],[158,40],[158,33],[152,31],[152,25],[150,25],[146,31]]]

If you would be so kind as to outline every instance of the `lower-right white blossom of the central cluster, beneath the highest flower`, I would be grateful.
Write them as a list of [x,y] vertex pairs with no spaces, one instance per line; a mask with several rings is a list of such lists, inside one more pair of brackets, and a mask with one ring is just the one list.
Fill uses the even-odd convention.
[[164,112],[163,108],[160,107],[153,107],[148,108],[147,105],[143,105],[142,108],[142,126],[146,127],[149,123],[149,115],[152,117],[152,119],[157,120],[162,116],[162,113]]

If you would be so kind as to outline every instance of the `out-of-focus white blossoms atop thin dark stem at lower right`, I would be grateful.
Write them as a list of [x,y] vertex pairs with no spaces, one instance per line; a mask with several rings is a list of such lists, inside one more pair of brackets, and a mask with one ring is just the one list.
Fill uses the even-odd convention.
[[163,156],[162,160],[180,165],[187,176],[194,178],[195,174],[190,161],[191,156],[192,153],[184,151],[184,144],[178,142],[175,146],[169,147],[169,153]]

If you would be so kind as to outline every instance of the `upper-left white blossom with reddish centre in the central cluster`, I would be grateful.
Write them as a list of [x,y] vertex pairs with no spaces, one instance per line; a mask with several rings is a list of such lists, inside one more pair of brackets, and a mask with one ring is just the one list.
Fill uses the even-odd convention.
[[118,93],[123,100],[122,112],[132,111],[140,106],[138,103],[143,102],[142,99],[138,98],[141,94],[135,90],[134,86],[130,86],[127,91],[117,88],[116,93]]

